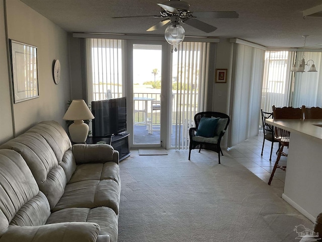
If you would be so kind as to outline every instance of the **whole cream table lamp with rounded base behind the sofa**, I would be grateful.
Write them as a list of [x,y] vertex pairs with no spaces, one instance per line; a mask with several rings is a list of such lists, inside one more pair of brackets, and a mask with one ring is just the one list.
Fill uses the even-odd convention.
[[69,134],[72,142],[85,143],[89,133],[89,126],[84,123],[84,119],[93,119],[94,116],[90,108],[86,105],[83,99],[72,100],[65,115],[62,119],[72,120],[69,126]]

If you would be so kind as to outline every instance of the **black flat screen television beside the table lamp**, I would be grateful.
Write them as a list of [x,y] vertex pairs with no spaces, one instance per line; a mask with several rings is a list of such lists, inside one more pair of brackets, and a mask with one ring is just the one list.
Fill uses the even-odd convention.
[[92,101],[93,137],[108,137],[126,131],[126,97]]

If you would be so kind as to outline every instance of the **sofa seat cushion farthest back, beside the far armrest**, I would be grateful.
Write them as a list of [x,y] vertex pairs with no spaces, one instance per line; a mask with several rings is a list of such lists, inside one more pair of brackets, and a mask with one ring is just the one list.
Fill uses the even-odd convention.
[[82,180],[112,179],[120,184],[119,165],[113,161],[77,165],[69,183]]

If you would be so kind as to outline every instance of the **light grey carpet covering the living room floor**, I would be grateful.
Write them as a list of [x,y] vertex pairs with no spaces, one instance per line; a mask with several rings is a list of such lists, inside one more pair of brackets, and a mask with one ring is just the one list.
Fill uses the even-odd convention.
[[[299,241],[312,223],[229,157],[202,150],[121,161],[119,242]],[[313,199],[313,198],[312,198]]]

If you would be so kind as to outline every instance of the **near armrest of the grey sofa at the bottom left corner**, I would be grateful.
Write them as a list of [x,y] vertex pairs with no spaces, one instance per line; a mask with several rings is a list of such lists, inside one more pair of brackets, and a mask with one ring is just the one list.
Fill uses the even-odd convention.
[[68,222],[41,226],[10,225],[1,242],[96,242],[100,226],[97,223]]

